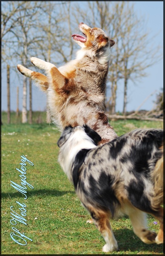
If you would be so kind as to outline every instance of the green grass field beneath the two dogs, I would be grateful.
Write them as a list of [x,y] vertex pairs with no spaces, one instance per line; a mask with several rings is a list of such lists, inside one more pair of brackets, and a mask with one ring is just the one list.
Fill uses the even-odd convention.
[[[162,122],[116,121],[111,122],[118,135],[134,128],[162,128]],[[111,225],[119,245],[119,252],[102,253],[104,239],[94,224],[87,224],[90,215],[81,206],[73,186],[57,162],[57,140],[60,133],[53,125],[11,124],[3,116],[2,125],[2,254],[163,254],[163,245],[144,244],[132,231],[127,217],[112,220]],[[34,163],[27,163],[27,199],[10,184],[19,184],[21,155]],[[19,201],[26,204],[27,225],[11,221],[11,209],[20,215]],[[17,215],[16,214],[16,215]],[[25,221],[25,223],[26,223]],[[159,223],[150,215],[148,226],[156,232]],[[12,222],[14,224],[14,221]],[[17,244],[10,234],[25,233],[27,245]],[[17,234],[20,236],[19,234]],[[20,243],[23,239],[14,237]]]

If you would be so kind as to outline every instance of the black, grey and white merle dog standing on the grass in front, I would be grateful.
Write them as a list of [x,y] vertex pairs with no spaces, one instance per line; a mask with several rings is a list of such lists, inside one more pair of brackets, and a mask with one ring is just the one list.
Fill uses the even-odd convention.
[[[105,239],[102,251],[118,250],[109,218],[121,214],[143,242],[163,243],[163,131],[136,129],[97,146],[100,140],[87,125],[68,126],[58,146],[61,167]],[[146,213],[159,220],[157,235]]]

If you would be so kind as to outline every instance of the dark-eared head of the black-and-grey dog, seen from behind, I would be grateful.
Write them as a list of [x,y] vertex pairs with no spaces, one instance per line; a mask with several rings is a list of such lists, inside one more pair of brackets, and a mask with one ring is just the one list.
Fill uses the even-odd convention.
[[65,127],[65,129],[63,130],[63,133],[61,134],[61,137],[58,140],[57,145],[59,146],[59,148],[61,148],[68,140],[69,143],[71,143],[71,141],[73,141],[74,143],[80,143],[81,141],[83,141],[84,145],[85,140],[90,140],[92,143],[94,143],[94,145],[98,145],[98,143],[101,140],[101,137],[96,131],[91,129],[88,125],[76,127],[72,127],[70,125]]

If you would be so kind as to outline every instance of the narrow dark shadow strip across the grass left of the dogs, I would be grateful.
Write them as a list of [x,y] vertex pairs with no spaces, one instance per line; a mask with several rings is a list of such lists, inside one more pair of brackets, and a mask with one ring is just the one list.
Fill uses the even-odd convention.
[[[32,197],[32,196],[63,196],[67,193],[72,193],[75,194],[74,191],[58,191],[56,189],[39,189],[39,190],[31,190],[31,192],[26,193],[27,197]],[[14,193],[3,193],[1,192],[1,198],[15,198],[15,197],[25,197],[23,194],[20,192],[14,192]]]

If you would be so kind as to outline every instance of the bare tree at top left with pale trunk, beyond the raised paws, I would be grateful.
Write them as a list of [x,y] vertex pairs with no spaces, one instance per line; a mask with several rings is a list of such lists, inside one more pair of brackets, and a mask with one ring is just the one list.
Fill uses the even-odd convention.
[[[40,9],[39,2],[3,2],[2,10],[2,45],[6,47],[3,55],[9,61],[17,59],[28,66],[28,49],[31,44],[31,34],[35,29],[35,18]],[[39,40],[37,35],[35,40]],[[4,48],[4,47],[3,47]],[[22,122],[27,122],[27,81],[23,77],[23,109]]]

